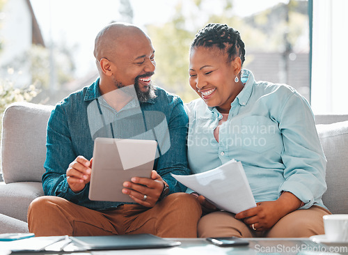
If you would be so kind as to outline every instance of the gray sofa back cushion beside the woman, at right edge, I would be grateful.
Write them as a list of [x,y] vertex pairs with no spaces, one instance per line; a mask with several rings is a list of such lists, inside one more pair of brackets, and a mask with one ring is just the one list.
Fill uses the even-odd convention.
[[332,213],[348,213],[348,121],[317,125],[326,160],[324,205]]

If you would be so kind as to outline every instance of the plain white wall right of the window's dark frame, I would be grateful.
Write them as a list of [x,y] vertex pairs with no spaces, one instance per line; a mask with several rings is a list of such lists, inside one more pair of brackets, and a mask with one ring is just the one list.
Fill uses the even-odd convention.
[[347,0],[313,0],[311,105],[315,114],[348,114],[347,11]]

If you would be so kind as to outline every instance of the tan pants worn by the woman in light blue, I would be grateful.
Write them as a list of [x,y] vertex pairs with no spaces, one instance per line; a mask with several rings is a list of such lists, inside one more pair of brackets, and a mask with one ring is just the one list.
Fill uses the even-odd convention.
[[198,222],[198,237],[308,238],[324,234],[323,216],[331,214],[320,206],[295,210],[281,218],[269,231],[254,231],[230,212],[211,212]]

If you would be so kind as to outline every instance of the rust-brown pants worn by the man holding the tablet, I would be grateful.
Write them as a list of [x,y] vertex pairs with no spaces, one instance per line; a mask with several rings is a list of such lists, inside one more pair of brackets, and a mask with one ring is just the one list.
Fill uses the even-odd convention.
[[196,238],[202,214],[191,194],[175,193],[153,208],[125,204],[96,211],[57,196],[40,196],[29,206],[29,231],[42,235],[125,235],[151,233],[164,238]]

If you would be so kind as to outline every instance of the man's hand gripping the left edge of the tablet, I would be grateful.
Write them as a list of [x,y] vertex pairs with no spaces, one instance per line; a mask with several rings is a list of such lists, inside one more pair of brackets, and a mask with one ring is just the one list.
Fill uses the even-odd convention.
[[92,173],[93,159],[86,160],[84,156],[78,156],[69,164],[66,171],[68,185],[70,189],[77,193],[84,189],[87,183],[90,182],[90,173]]

